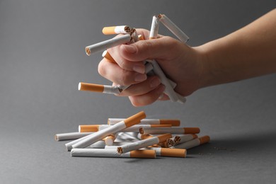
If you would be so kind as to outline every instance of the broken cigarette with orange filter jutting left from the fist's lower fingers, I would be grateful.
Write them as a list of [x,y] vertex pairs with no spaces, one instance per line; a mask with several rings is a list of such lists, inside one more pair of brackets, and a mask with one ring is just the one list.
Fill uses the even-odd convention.
[[79,91],[92,91],[92,92],[109,93],[109,94],[118,94],[121,91],[121,89],[117,86],[89,84],[84,82],[80,82],[78,88],[79,88]]

